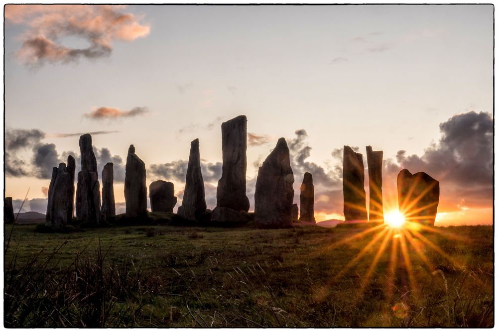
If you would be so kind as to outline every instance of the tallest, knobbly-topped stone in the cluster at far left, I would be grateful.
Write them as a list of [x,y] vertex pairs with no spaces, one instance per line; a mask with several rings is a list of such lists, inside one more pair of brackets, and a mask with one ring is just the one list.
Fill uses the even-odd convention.
[[97,172],[97,159],[92,147],[92,136],[80,136],[81,171],[78,172],[76,186],[76,216],[81,221],[99,224],[100,212],[100,183]]

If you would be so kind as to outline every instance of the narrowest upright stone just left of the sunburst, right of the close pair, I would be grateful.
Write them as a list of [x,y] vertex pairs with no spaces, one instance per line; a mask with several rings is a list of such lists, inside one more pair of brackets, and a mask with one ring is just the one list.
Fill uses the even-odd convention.
[[382,208],[382,151],[372,151],[367,146],[367,164],[369,167],[369,221],[383,222]]

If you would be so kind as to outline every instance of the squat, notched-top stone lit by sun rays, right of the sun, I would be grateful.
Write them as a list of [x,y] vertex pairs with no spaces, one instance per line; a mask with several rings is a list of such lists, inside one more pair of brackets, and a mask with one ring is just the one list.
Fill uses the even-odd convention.
[[402,169],[397,178],[399,211],[408,221],[434,226],[439,205],[439,181],[424,172]]

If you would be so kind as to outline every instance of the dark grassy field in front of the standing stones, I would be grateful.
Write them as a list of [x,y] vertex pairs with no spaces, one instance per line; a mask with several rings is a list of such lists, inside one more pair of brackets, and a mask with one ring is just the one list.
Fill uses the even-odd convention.
[[5,327],[494,326],[491,226],[34,229],[5,253]]

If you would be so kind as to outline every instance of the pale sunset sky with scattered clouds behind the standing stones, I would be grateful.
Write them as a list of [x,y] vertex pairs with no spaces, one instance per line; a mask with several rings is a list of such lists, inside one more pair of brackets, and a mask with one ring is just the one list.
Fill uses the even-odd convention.
[[344,219],[343,146],[367,168],[372,145],[384,213],[407,168],[440,181],[436,225],[493,222],[492,5],[7,5],[4,18],[14,208],[29,188],[23,210],[45,213],[52,167],[68,154],[78,165],[91,133],[99,170],[115,164],[118,213],[130,144],[147,186],[173,182],[178,207],[195,138],[212,209],[221,123],[245,114],[250,211],[257,169],[285,137],[294,202],[309,171],[317,221]]

